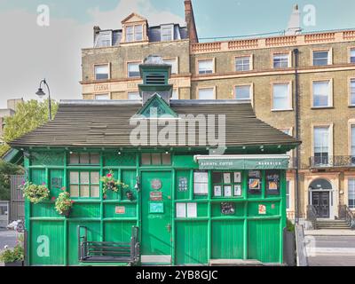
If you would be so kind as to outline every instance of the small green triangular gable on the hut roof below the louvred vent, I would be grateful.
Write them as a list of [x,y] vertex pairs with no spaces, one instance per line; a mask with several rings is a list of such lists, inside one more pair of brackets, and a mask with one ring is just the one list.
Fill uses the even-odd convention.
[[160,118],[163,115],[177,118],[177,113],[170,108],[167,102],[162,99],[158,93],[155,93],[148,99],[146,104],[142,106],[136,115],[142,115],[146,118]]

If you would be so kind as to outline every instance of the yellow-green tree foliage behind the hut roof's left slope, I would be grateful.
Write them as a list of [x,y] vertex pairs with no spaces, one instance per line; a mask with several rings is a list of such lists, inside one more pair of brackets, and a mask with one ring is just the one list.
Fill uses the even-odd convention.
[[[52,100],[52,117],[57,113],[57,110],[58,104]],[[20,103],[17,106],[16,114],[4,119],[4,145],[0,146],[0,157],[10,150],[8,143],[32,130],[36,130],[37,127],[43,125],[45,122],[48,122],[48,99],[43,102],[31,99],[27,102]]]

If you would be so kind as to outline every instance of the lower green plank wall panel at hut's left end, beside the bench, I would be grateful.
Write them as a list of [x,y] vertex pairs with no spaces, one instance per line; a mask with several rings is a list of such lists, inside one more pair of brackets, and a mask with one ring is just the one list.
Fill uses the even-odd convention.
[[64,222],[32,221],[30,240],[32,265],[64,264]]

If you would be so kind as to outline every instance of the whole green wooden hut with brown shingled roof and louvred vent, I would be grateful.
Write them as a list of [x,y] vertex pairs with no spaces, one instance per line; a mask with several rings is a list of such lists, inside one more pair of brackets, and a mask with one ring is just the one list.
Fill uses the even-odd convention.
[[[157,57],[140,70],[142,100],[61,101],[53,121],[12,142],[28,181],[50,190],[26,201],[27,264],[283,263],[286,153],[299,142],[250,101],[171,100]],[[223,130],[222,146],[203,143]],[[107,174],[124,186],[110,190]],[[51,201],[63,192],[67,216]]]

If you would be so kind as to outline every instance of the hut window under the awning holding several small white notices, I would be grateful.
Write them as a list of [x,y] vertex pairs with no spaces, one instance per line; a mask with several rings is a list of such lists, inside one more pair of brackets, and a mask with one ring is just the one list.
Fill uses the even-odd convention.
[[213,198],[241,198],[242,171],[212,171]]

